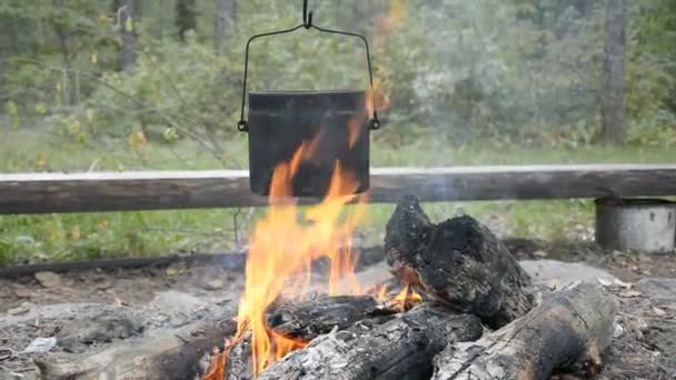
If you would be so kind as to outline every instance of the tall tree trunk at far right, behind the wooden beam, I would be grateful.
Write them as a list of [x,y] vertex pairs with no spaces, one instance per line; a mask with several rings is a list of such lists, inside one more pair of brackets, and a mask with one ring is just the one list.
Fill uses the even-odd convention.
[[600,140],[605,143],[622,143],[625,140],[626,13],[626,0],[608,0],[606,6],[606,58],[600,94]]

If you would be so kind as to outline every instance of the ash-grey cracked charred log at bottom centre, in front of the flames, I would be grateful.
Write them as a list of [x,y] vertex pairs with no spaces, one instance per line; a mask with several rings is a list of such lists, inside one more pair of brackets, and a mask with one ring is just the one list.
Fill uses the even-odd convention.
[[366,320],[320,336],[267,368],[258,379],[429,379],[431,358],[448,342],[476,340],[481,332],[476,316],[426,303],[382,323]]

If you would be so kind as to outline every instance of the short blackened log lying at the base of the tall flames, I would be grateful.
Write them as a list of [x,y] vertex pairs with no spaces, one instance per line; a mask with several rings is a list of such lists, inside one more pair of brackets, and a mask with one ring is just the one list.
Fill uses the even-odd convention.
[[277,304],[268,313],[267,322],[287,338],[310,341],[335,328],[345,330],[365,318],[395,312],[369,296],[318,296]]

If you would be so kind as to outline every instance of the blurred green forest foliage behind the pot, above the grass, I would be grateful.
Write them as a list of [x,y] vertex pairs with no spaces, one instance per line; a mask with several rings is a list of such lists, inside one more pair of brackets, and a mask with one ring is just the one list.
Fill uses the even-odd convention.
[[[173,12],[166,12],[169,6]],[[356,30],[371,43],[377,87],[389,100],[388,132],[402,144],[441,136],[592,142],[598,129],[604,57],[603,1],[411,0],[316,2],[315,22]],[[58,114],[77,139],[142,130],[168,142],[233,136],[247,39],[300,22],[296,2],[238,1],[226,51],[211,48],[215,3],[143,2],[135,72],[120,72],[120,28],[110,1],[10,0],[0,18],[17,26],[10,64],[21,114]],[[670,0],[630,3],[627,109],[634,130],[664,129],[676,113],[676,9]],[[30,10],[30,11],[29,11]],[[60,37],[70,48],[63,51]],[[180,37],[180,38],[179,38]],[[185,43],[179,43],[185,40]],[[183,42],[183,41],[181,41]],[[72,71],[59,71],[68,63]],[[249,89],[366,88],[360,42],[297,31],[251,44]],[[77,98],[77,99],[76,99]],[[381,101],[382,103],[384,101]],[[39,104],[39,107],[38,107]],[[87,114],[93,112],[93,122]],[[664,118],[663,118],[664,119]],[[26,118],[22,118],[26,120]],[[633,132],[632,136],[640,134]],[[649,134],[649,133],[648,133]],[[636,139],[630,138],[633,142]]]

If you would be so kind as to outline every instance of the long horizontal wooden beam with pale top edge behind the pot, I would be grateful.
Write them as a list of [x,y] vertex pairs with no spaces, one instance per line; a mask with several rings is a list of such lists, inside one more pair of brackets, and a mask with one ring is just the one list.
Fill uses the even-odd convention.
[[[407,193],[429,202],[676,196],[676,164],[371,169],[370,202]],[[0,174],[0,214],[265,204],[243,170]]]

